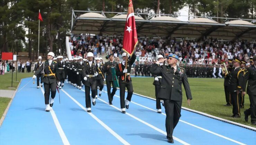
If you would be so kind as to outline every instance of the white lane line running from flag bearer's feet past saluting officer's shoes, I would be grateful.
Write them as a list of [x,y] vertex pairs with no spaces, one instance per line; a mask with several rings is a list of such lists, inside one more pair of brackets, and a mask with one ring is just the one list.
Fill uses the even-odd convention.
[[[81,90],[85,92],[85,90],[83,90],[83,89],[81,89]],[[106,101],[100,99],[99,97],[98,97],[98,100],[100,100],[100,101],[102,101],[103,103],[109,105],[109,103],[107,103]],[[117,107],[114,106],[114,105],[109,105],[109,106],[111,106],[111,107],[113,107],[113,108],[115,108],[115,109],[117,109],[117,110],[119,110],[119,111],[121,112],[121,109],[120,109],[120,108],[117,108]],[[167,134],[165,131],[163,131],[163,130],[161,130],[161,129],[159,129],[159,128],[157,128],[157,127],[155,127],[155,126],[153,126],[153,125],[151,125],[151,124],[149,124],[149,123],[147,123],[147,122],[145,122],[145,121],[143,121],[143,120],[141,120],[141,119],[139,119],[138,117],[135,117],[135,116],[131,115],[130,113],[127,113],[127,112],[126,112],[126,115],[128,115],[128,116],[130,116],[130,117],[132,117],[132,118],[134,118],[134,119],[136,119],[136,120],[138,120],[139,122],[141,122],[141,123],[143,123],[143,124],[145,124],[145,125],[147,125],[147,126],[153,128],[153,129],[155,129],[156,131],[158,131],[158,132],[160,132],[160,133],[162,133],[162,134],[164,134],[164,135]],[[188,144],[188,143],[182,141],[181,139],[179,139],[179,138],[177,138],[177,137],[174,137],[174,136],[173,136],[173,139],[176,140],[176,141],[178,141],[178,142],[180,142],[180,143],[182,143],[182,144],[184,144],[184,145],[190,145],[190,144]]]

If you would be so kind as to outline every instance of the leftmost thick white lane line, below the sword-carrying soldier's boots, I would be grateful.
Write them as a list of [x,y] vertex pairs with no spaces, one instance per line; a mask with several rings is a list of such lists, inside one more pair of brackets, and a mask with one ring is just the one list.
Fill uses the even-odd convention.
[[[42,93],[44,94],[43,88],[42,88],[42,87],[40,87],[40,88],[41,88]],[[51,97],[51,96],[50,96],[50,97]],[[61,127],[61,124],[60,124],[60,122],[58,121],[58,118],[57,118],[57,116],[56,116],[56,114],[55,114],[53,108],[50,109],[50,113],[51,113],[51,115],[52,115],[52,117],[53,117],[54,124],[55,124],[55,126],[56,126],[56,128],[57,128],[57,130],[58,130],[58,132],[59,132],[59,134],[60,134],[60,136],[61,136],[61,139],[62,139],[63,144],[64,144],[64,145],[70,145],[70,143],[68,142],[67,137],[66,137],[66,135],[65,135],[65,133],[64,133],[62,127]]]

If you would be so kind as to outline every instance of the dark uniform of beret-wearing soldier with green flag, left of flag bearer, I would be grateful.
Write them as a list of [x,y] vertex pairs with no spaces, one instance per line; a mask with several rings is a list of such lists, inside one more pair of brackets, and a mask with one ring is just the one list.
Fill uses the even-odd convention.
[[[107,67],[109,68],[107,69]],[[117,62],[116,61],[107,61],[104,65],[104,72],[106,73],[106,85],[107,85],[107,90],[108,90],[108,100],[109,103],[112,103],[113,96],[116,94],[117,88],[113,87],[112,92],[111,92],[111,83],[112,86],[114,85],[114,78],[112,77],[112,72],[111,72],[111,67],[114,67],[115,69],[117,68]]]

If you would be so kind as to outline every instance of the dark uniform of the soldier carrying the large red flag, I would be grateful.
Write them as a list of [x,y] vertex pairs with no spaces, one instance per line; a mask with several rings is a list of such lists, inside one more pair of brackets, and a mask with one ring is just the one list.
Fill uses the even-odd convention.
[[131,83],[131,77],[130,77],[130,72],[131,72],[131,66],[132,64],[134,64],[136,60],[136,55],[133,54],[130,58],[130,60],[127,61],[127,76],[126,76],[126,82],[125,81],[125,73],[123,72],[123,70],[125,69],[125,65],[122,64],[122,62],[120,64],[118,64],[117,66],[117,71],[116,71],[116,75],[119,76],[119,88],[120,88],[120,105],[121,108],[125,108],[125,88],[127,88],[127,97],[126,99],[131,101],[131,96],[133,93],[133,87],[132,87],[132,83]]

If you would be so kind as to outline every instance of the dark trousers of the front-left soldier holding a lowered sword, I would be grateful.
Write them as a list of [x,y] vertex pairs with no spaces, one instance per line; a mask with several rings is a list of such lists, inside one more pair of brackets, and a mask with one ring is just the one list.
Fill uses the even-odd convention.
[[55,98],[56,86],[57,86],[57,82],[56,81],[54,83],[52,83],[52,84],[44,83],[44,101],[45,101],[45,104],[49,104],[50,91],[51,91],[51,97],[53,99]]

